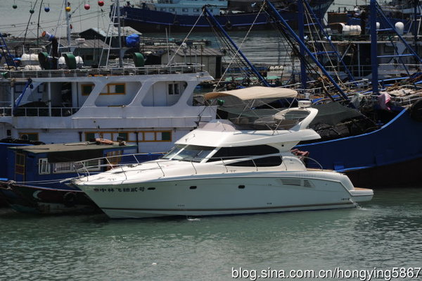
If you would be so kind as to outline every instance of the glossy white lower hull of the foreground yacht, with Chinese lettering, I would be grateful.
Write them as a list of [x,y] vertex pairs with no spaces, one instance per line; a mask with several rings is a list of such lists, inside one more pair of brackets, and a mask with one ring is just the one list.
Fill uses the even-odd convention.
[[[318,172],[321,173],[321,172]],[[322,172],[324,173],[324,172]],[[217,216],[353,208],[370,189],[348,191],[338,179],[300,175],[190,177],[120,185],[78,185],[110,218]]]

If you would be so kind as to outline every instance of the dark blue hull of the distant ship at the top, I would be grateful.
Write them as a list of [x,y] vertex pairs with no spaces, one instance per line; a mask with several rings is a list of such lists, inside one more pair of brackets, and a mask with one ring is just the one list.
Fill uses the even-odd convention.
[[[324,18],[329,6],[333,0],[314,0],[311,3],[316,16]],[[298,13],[288,9],[281,10],[283,18],[288,20],[289,24],[297,27],[296,20]],[[174,13],[153,11],[147,8],[132,8],[124,6],[121,8],[121,14],[124,16],[124,25],[130,26],[139,32],[163,32],[166,29],[171,32],[189,32],[193,26],[193,32],[212,31],[207,19],[197,15],[176,15]],[[225,30],[248,30],[254,23],[254,30],[274,29],[271,21],[265,13],[257,16],[257,13],[233,13],[227,15],[215,15],[215,18]],[[198,22],[197,22],[198,21]]]

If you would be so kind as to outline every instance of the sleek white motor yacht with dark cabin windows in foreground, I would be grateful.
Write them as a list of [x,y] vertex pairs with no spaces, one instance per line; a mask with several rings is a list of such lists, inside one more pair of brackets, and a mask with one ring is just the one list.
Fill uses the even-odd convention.
[[[341,173],[307,169],[290,152],[302,140],[319,139],[307,128],[317,110],[307,105],[257,119],[252,127],[248,118],[212,120],[159,160],[86,173],[72,185],[110,218],[352,208],[371,200],[371,189],[355,188]],[[253,128],[264,123],[264,130]]]

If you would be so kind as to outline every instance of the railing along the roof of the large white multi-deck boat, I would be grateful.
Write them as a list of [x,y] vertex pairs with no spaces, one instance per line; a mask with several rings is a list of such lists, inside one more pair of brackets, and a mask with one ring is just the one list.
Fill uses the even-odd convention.
[[174,63],[171,65],[146,65],[132,68],[77,68],[58,70],[7,70],[7,77],[11,78],[39,78],[39,77],[89,77],[115,75],[154,75],[170,73],[203,72],[200,63]]

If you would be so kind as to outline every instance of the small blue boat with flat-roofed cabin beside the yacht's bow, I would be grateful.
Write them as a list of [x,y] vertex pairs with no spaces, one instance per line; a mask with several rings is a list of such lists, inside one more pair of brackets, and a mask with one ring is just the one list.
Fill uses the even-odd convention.
[[[41,144],[8,147],[7,177],[0,181],[0,197],[11,208],[25,213],[63,214],[98,211],[96,204],[84,192],[68,187],[65,179],[75,177],[75,162],[89,158],[109,159],[90,161],[91,173],[100,173],[110,165],[129,162],[128,152],[136,145],[96,139],[96,142]],[[158,155],[145,154],[131,161],[146,161]],[[125,162],[126,161],[126,162]]]

